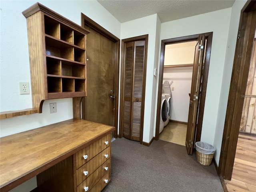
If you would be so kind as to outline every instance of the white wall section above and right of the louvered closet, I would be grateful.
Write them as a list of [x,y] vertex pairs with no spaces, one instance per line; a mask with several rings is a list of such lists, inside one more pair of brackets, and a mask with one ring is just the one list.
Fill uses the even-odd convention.
[[[159,18],[157,14],[143,17],[140,19],[124,22],[121,24],[121,39],[141,36],[148,34],[148,58],[147,58],[147,70],[146,70],[146,94],[145,94],[145,109],[144,109],[144,130],[143,130],[143,141],[150,142],[154,136],[155,127],[155,106],[156,106],[156,81],[153,72],[156,68],[156,32],[157,24],[159,25]],[[158,31],[159,34],[159,31]],[[157,44],[158,45],[158,44]],[[159,51],[158,51],[159,52]],[[156,60],[157,59],[157,60]],[[154,88],[153,86],[154,85]],[[154,103],[152,102],[154,101]],[[153,119],[151,119],[153,118]]]

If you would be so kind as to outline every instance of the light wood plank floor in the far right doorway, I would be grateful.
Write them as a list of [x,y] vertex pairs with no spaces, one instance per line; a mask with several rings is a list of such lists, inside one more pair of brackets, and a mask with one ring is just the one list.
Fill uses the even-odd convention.
[[256,192],[256,137],[239,134],[228,192]]

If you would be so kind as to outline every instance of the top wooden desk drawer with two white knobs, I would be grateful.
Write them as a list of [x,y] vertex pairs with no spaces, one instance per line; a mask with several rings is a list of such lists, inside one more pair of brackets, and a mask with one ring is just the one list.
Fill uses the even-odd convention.
[[96,142],[90,144],[86,148],[83,148],[82,150],[78,151],[76,153],[76,168],[79,168],[86,162],[88,162],[90,159],[92,159],[94,156],[99,154],[102,150],[110,146],[111,143],[111,135],[108,134]]

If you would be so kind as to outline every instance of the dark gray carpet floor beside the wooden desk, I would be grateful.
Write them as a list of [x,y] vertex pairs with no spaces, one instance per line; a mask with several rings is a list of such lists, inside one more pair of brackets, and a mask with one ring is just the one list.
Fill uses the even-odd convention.
[[185,146],[158,140],[150,147],[112,142],[111,181],[102,192],[223,192],[214,164],[203,166]]

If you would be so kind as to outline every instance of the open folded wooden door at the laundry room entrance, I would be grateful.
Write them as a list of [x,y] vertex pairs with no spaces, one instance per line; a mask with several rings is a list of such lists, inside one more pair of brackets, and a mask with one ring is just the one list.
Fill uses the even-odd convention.
[[195,141],[196,125],[198,122],[198,104],[202,84],[202,70],[204,65],[205,36],[200,34],[195,48],[194,67],[190,92],[188,112],[188,127],[186,135],[186,149],[192,155]]

